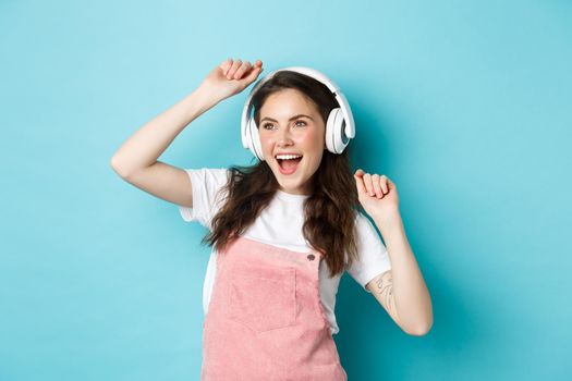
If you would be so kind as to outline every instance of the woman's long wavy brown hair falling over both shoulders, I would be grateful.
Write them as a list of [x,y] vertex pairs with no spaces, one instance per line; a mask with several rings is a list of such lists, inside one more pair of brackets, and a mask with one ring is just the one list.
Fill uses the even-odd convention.
[[[287,88],[296,89],[311,99],[325,125],[331,109],[339,107],[322,83],[297,72],[280,71],[252,98],[256,125],[259,125],[260,108],[268,96]],[[360,201],[350,169],[350,147],[340,155],[324,151],[321,162],[309,180],[312,195],[304,200],[303,235],[315,250],[321,253],[330,276],[343,272],[345,266],[357,257],[355,219]],[[214,245],[219,253],[245,232],[279,188],[266,161],[251,167],[233,165],[229,170],[229,181],[220,190],[226,192],[228,198],[212,218],[212,230],[202,241]]]

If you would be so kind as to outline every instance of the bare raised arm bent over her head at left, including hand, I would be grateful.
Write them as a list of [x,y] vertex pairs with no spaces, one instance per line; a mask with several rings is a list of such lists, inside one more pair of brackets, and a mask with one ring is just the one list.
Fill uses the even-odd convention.
[[261,61],[227,60],[200,86],[135,132],[111,158],[111,168],[130,184],[161,199],[193,207],[191,179],[180,168],[158,158],[192,121],[253,83]]

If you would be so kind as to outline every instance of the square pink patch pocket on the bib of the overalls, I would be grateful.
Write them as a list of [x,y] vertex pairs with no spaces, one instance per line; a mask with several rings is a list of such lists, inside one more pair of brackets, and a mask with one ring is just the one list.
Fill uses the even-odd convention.
[[296,320],[294,268],[235,267],[230,272],[227,318],[265,332],[289,327]]

